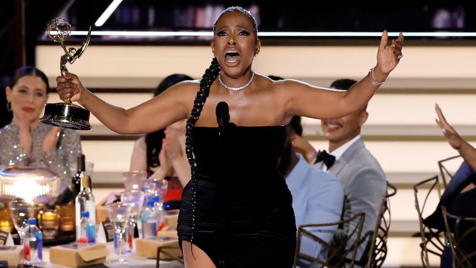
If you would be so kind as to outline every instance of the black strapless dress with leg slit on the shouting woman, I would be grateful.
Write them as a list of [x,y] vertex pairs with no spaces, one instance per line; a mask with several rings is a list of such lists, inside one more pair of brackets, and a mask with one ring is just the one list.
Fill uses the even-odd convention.
[[219,128],[192,130],[196,211],[193,219],[193,191],[188,183],[177,227],[180,247],[193,233],[193,245],[218,268],[292,267],[293,198],[277,170],[286,127],[228,124],[219,133]]

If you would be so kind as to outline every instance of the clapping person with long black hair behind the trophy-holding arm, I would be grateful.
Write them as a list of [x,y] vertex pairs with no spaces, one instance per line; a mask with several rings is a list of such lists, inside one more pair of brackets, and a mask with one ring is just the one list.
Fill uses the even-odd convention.
[[[185,80],[192,78],[184,74],[167,76],[157,86],[154,97]],[[132,151],[130,170],[147,171],[149,179],[168,180],[165,202],[180,201],[183,187],[190,180],[190,166],[185,154],[185,124],[186,120],[180,120],[166,129],[141,136]]]

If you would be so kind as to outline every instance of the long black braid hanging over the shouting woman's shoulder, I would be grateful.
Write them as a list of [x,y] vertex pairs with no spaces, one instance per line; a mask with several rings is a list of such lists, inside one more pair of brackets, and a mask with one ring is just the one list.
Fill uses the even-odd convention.
[[[216,58],[213,58],[212,64],[208,69],[205,70],[205,74],[203,74],[202,79],[200,80],[200,90],[197,92],[197,96],[195,97],[195,101],[193,104],[193,109],[190,114],[190,117],[187,120],[186,125],[186,132],[185,132],[185,152],[187,154],[188,163],[190,164],[191,170],[191,188],[193,191],[193,198],[192,198],[192,235],[190,237],[190,245],[193,243],[193,234],[195,229],[195,205],[196,205],[196,191],[198,187],[198,182],[196,178],[196,171],[195,171],[195,160],[193,158],[193,150],[192,150],[192,128],[195,122],[197,122],[200,113],[202,112],[203,105],[207,100],[208,94],[210,94],[210,86],[212,85],[213,81],[218,76],[220,72],[220,66],[218,65],[218,61]],[[193,253],[192,253],[193,254]]]

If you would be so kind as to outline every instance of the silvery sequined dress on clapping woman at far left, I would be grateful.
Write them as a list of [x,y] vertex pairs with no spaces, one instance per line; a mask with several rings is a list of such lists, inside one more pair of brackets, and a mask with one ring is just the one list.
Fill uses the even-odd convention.
[[81,153],[79,134],[69,129],[60,129],[60,136],[56,149],[49,154],[43,151],[43,140],[50,133],[52,126],[38,124],[30,130],[32,149],[26,152],[20,146],[20,128],[12,121],[0,129],[0,167],[8,166],[25,167],[35,166],[47,168],[60,175],[61,184],[71,182],[69,165],[77,164],[77,155]]

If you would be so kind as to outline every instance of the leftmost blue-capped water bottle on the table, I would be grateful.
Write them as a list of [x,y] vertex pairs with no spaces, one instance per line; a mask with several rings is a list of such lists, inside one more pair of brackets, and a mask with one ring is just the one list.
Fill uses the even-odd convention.
[[40,266],[43,262],[43,233],[36,227],[36,218],[29,218],[28,224],[23,238],[25,264]]

